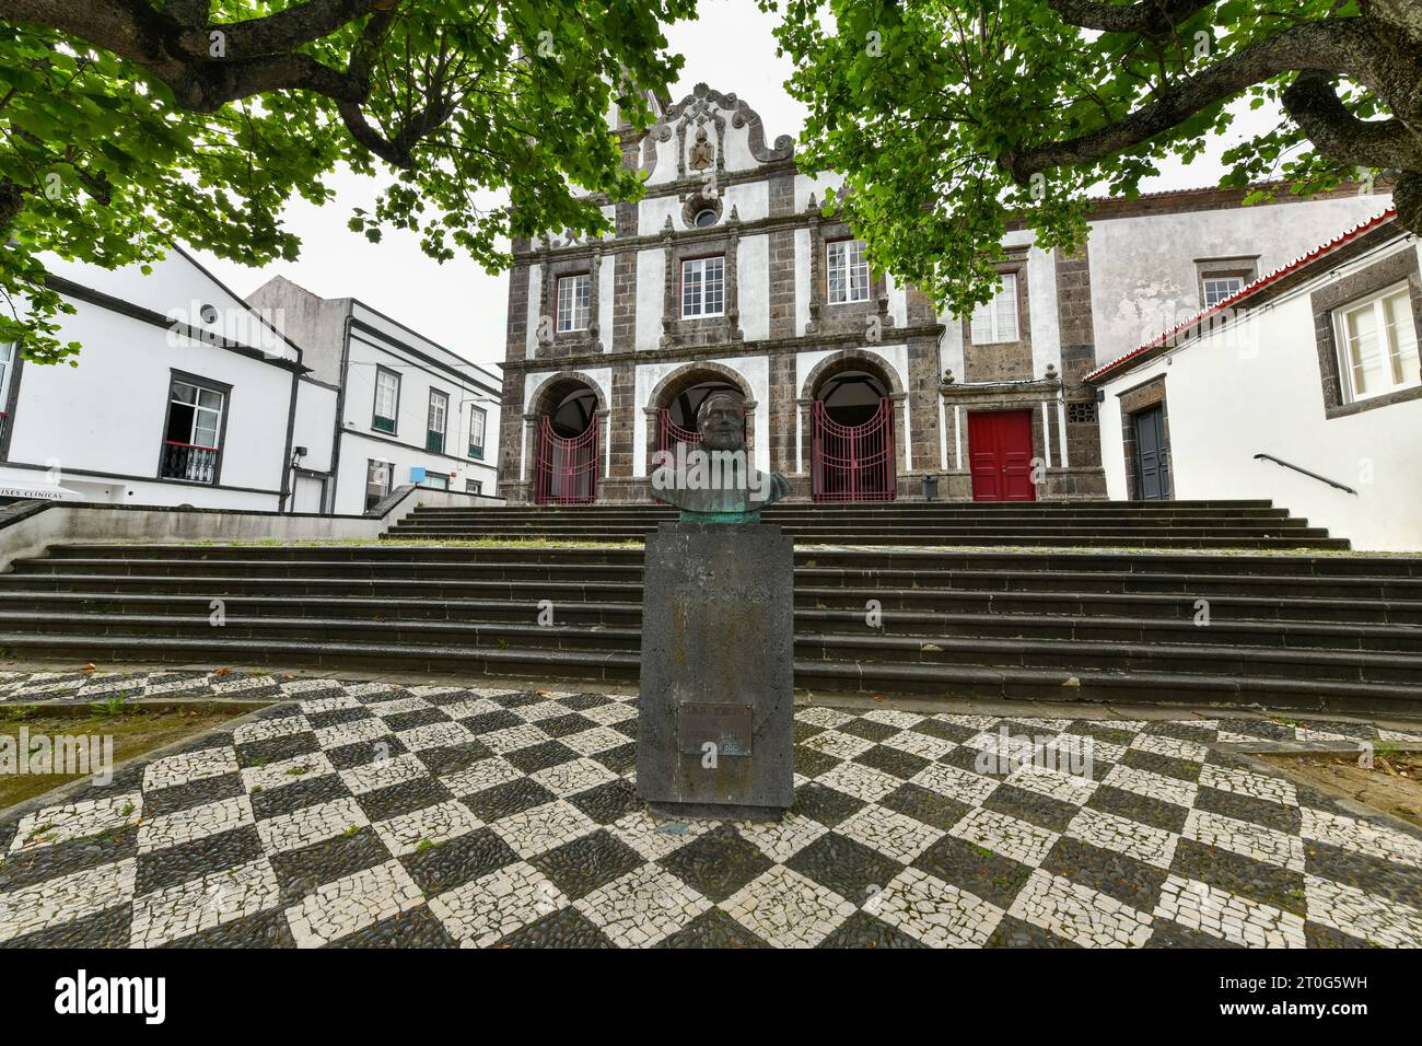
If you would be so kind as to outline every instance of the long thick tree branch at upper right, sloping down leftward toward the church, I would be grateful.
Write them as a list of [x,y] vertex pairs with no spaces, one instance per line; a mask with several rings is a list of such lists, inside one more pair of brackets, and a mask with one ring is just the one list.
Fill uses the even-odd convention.
[[1375,47],[1362,19],[1294,26],[1163,87],[1155,101],[1115,124],[1066,141],[1007,151],[998,157],[998,168],[1025,184],[1038,171],[1091,164],[1148,142],[1200,110],[1284,73],[1320,70],[1376,90]]

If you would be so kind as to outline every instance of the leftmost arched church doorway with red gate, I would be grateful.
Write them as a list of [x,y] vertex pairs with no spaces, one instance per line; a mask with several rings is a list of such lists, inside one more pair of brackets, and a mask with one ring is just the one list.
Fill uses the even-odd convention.
[[559,379],[539,396],[533,501],[587,505],[597,500],[597,393],[576,377]]

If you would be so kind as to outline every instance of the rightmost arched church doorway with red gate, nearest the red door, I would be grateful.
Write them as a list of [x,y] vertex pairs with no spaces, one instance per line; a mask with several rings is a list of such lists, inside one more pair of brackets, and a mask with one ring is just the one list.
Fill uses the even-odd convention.
[[884,377],[862,361],[839,367],[819,379],[811,410],[811,497],[893,501],[893,400]]

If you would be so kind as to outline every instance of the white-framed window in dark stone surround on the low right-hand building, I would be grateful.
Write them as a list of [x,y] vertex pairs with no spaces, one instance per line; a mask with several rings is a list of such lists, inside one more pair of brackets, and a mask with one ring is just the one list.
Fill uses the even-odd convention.
[[1334,312],[1344,403],[1422,384],[1416,317],[1406,283]]

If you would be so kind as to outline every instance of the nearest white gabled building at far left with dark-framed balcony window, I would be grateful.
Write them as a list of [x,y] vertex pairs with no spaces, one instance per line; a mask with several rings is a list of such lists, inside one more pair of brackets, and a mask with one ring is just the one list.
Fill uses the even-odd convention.
[[[182,249],[115,272],[51,260],[74,366],[0,349],[0,497],[290,511],[330,471],[336,390]],[[304,454],[299,451],[304,448]]]

